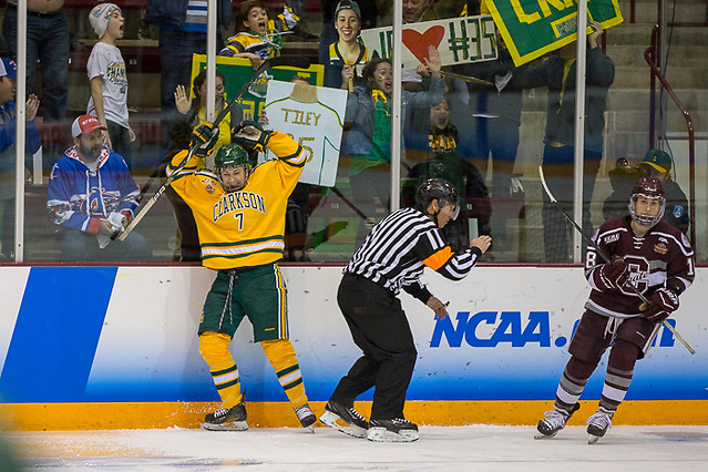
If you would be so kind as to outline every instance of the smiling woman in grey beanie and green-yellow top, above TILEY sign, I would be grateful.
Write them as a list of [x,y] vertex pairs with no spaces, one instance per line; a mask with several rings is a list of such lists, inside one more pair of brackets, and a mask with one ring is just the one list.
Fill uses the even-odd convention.
[[353,0],[341,0],[335,11],[335,28],[339,41],[329,45],[325,64],[325,86],[353,92],[356,65],[369,60],[369,51],[359,40],[361,11]]

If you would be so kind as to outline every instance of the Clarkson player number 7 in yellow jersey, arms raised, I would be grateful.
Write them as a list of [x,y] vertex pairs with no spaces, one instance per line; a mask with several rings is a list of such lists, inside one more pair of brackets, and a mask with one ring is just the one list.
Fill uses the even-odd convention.
[[[172,187],[189,205],[199,233],[202,260],[217,270],[199,322],[199,353],[209,366],[223,408],[205,418],[207,430],[247,429],[240,378],[228,350],[236,329],[248,317],[254,339],[274,367],[304,428],[317,418],[311,412],[295,349],[288,339],[286,287],[277,260],[285,248],[285,211],[306,162],[306,153],[285,133],[266,132],[253,122],[234,130],[240,144],[223,145],[214,172],[204,160],[214,148],[218,130],[211,123],[193,133],[201,143],[179,168],[186,151],[167,168],[177,173]],[[255,168],[248,151],[268,148],[278,158]]]

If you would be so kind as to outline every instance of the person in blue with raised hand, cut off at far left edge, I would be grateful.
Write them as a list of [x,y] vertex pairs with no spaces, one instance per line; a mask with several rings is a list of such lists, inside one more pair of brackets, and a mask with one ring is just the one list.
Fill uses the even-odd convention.
[[[14,252],[17,80],[18,68],[14,61],[0,58],[0,260],[12,258]],[[24,131],[24,152],[29,155],[34,154],[42,145],[34,124],[38,109],[39,99],[31,94],[25,104]]]

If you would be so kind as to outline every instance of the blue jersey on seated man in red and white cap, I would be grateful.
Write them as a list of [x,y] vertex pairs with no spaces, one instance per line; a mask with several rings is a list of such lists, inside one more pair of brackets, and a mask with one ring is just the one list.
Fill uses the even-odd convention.
[[101,220],[113,212],[133,219],[138,196],[123,157],[103,146],[93,172],[72,146],[52,168],[47,208],[55,224],[98,235]]

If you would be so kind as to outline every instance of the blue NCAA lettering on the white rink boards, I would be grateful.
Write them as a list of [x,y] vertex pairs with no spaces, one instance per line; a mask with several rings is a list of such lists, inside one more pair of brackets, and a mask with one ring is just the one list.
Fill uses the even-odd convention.
[[[473,348],[494,348],[506,343],[512,348],[523,348],[526,345],[541,348],[562,348],[568,343],[575,334],[579,319],[573,324],[573,329],[565,336],[551,337],[548,311],[479,311],[470,316],[470,311],[458,311],[455,320],[452,317],[435,321],[431,348],[447,345],[450,348],[462,347],[462,341]],[[676,320],[668,319],[673,327]],[[658,347],[673,347],[674,335],[663,327],[657,336]],[[655,339],[653,346],[657,345]]]

